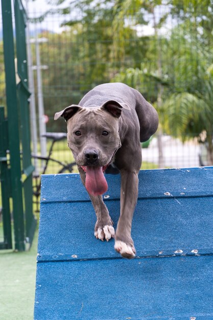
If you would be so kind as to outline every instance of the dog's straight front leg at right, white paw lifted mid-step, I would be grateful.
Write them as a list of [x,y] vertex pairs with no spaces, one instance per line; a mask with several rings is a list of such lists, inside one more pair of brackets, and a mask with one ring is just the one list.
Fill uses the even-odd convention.
[[121,170],[121,215],[115,233],[115,250],[122,257],[135,257],[131,238],[132,217],[138,196],[138,172]]

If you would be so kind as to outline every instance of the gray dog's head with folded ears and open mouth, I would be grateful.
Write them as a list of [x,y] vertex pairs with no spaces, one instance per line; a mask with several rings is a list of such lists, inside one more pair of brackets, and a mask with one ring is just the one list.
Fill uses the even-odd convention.
[[90,178],[93,176],[96,180],[101,180],[102,172],[121,147],[121,113],[121,104],[110,100],[100,107],[71,105],[55,114],[55,120],[63,117],[67,122],[68,147],[72,150],[77,165],[85,172],[92,171],[87,174]]

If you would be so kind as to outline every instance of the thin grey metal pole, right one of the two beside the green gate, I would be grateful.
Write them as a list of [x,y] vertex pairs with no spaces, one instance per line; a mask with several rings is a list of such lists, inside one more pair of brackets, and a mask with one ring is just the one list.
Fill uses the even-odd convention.
[[46,138],[43,136],[43,134],[46,133],[46,124],[44,122],[41,63],[40,63],[39,41],[37,38],[37,32],[35,37],[35,50],[36,50],[36,65],[37,65],[36,72],[37,72],[38,119],[39,119],[41,155],[46,156]]

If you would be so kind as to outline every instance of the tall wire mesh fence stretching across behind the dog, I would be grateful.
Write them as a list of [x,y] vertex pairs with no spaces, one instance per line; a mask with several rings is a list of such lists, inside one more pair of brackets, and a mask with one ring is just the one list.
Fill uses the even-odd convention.
[[[211,1],[22,2],[29,18],[34,153],[46,153],[39,133],[66,132],[63,120],[53,121],[56,111],[78,103],[95,85],[121,81],[160,116],[158,133],[143,150],[143,168],[211,164]],[[65,140],[55,144],[53,157],[73,160]],[[50,163],[49,173],[58,170]]]

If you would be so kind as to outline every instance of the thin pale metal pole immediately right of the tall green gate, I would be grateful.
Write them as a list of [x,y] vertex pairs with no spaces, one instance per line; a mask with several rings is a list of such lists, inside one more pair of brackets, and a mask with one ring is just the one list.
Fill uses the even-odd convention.
[[[28,0],[26,0],[26,11],[28,14]],[[36,122],[36,104],[35,104],[35,86],[33,77],[33,63],[31,54],[31,43],[30,43],[30,27],[27,16],[27,28],[26,28],[26,40],[27,40],[27,56],[28,56],[28,79],[29,79],[29,89],[31,92],[30,96],[30,123],[31,123],[31,134],[33,142],[33,153],[38,153],[38,139],[37,139],[37,122]],[[38,175],[38,159],[34,159],[34,174]]]

